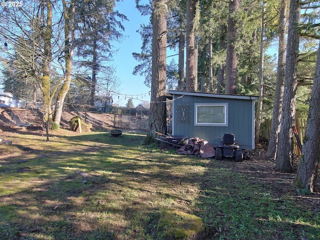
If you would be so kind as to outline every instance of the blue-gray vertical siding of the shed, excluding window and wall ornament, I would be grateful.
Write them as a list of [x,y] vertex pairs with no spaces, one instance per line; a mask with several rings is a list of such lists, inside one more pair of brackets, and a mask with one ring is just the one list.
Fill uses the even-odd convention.
[[[172,93],[171,93],[172,94]],[[214,95],[214,94],[212,94]],[[212,146],[220,144],[224,133],[233,133],[235,141],[243,149],[254,148],[254,99],[236,99],[214,96],[172,94],[172,134],[200,137]],[[178,98],[182,96],[181,98]],[[176,99],[178,98],[178,99]],[[194,103],[228,103],[228,126],[195,126]],[[190,123],[177,123],[177,106],[190,106]]]

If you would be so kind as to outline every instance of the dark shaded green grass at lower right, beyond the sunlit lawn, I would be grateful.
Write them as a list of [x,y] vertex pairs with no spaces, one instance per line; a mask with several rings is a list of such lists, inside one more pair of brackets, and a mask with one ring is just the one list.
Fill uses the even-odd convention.
[[319,194],[301,200],[294,174],[274,172],[272,162],[255,156],[210,161],[204,175],[198,214],[210,239],[301,239],[303,231],[307,239],[319,239]]

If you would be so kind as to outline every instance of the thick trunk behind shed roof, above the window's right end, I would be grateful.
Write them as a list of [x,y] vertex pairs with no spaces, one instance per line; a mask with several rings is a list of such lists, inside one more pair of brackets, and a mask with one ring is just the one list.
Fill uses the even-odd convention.
[[238,36],[234,14],[239,9],[240,0],[229,0],[228,32],[225,62],[225,93],[236,94],[238,56],[235,42]]

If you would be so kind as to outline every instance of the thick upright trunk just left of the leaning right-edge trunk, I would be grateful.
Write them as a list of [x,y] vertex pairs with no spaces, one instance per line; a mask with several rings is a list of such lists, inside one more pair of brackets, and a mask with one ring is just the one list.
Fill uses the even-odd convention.
[[292,171],[292,138],[295,116],[295,93],[297,87],[297,62],[299,50],[299,32],[296,27],[300,18],[300,1],[290,0],[287,53],[285,58],[285,76],[281,128],[278,150],[275,159],[275,170]]

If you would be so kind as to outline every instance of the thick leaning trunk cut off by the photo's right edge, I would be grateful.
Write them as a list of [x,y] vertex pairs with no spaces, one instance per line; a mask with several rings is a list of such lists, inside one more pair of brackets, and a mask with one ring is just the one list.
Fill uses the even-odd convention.
[[298,187],[315,189],[317,167],[320,155],[320,43],[315,65],[306,130],[303,137],[302,155],[297,170],[295,184]]

